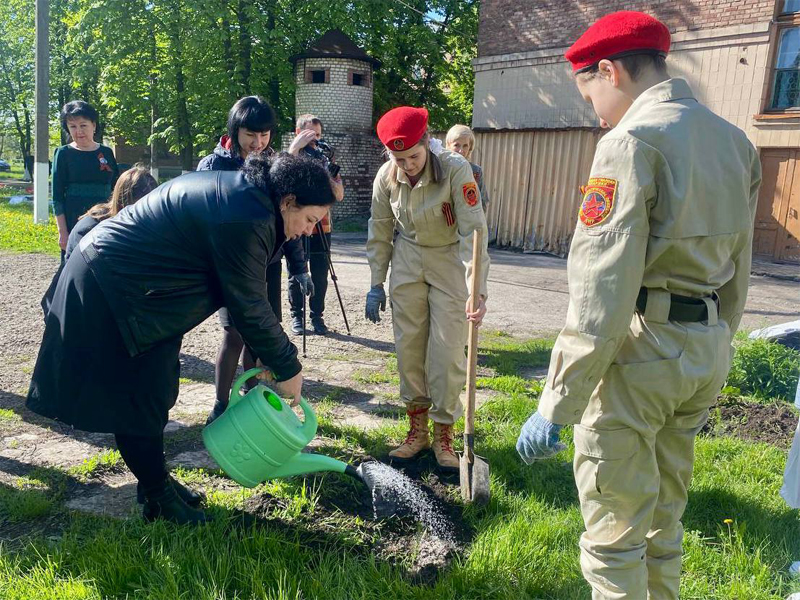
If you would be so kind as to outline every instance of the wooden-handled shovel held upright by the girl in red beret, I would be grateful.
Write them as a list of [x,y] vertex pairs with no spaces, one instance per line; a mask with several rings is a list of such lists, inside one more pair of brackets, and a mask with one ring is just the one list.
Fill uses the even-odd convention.
[[[483,230],[472,236],[472,281],[470,281],[470,312],[478,303],[478,282],[481,280],[481,249]],[[478,326],[469,324],[467,342],[467,409],[464,414],[464,452],[459,461],[461,497],[464,502],[484,505],[489,502],[489,463],[475,454],[475,372],[478,368]]]

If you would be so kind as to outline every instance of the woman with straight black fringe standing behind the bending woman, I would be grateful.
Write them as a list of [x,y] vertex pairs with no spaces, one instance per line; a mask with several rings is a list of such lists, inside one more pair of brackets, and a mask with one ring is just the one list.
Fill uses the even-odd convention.
[[[239,99],[228,113],[228,134],[223,135],[212,154],[203,158],[197,165],[198,171],[238,171],[244,165],[249,154],[272,154],[269,142],[275,128],[275,113],[266,100],[260,96],[246,96]],[[289,275],[298,281],[303,293],[313,289],[306,271],[303,248],[300,239],[287,241],[282,252],[277,252],[267,266],[267,297],[272,312],[282,321],[281,311],[281,257],[286,254]],[[310,288],[310,289],[309,289]],[[217,352],[214,368],[214,386],[216,402],[208,415],[206,424],[210,424],[228,407],[231,385],[239,367],[239,356],[242,357],[244,370],[252,369],[256,359],[245,346],[242,336],[236,329],[227,308],[218,312],[220,325],[225,333]],[[253,382],[249,382],[253,384]]]

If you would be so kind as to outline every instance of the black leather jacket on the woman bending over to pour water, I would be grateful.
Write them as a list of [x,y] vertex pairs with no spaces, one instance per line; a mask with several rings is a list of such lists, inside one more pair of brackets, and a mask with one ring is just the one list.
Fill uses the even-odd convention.
[[80,250],[131,356],[182,335],[220,307],[279,380],[301,366],[267,301],[285,240],[274,202],[241,172],[182,175],[95,227]]

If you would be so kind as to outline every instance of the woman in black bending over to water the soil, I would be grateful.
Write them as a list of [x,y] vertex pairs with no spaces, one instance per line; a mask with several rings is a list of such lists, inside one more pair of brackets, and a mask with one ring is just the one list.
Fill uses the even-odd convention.
[[[297,348],[267,302],[265,270],[335,202],[318,163],[248,157],[239,172],[191,173],[106,219],[72,253],[45,321],[27,406],[113,433],[147,520],[202,523],[174,482],[163,430],[178,396],[181,336],[226,306],[274,389],[300,400]],[[87,365],[91,365],[90,367]]]

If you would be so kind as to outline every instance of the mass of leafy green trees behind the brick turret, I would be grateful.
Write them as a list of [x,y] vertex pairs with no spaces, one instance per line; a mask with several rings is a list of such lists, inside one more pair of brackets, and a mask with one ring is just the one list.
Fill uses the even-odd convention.
[[[210,151],[231,104],[266,97],[292,127],[289,56],[339,27],[383,67],[375,114],[425,105],[431,125],[469,123],[478,0],[51,0],[53,117],[82,98],[100,131],[181,156]],[[0,5],[0,101],[30,154],[33,0]],[[278,132],[280,133],[280,131]],[[65,141],[65,140],[64,140]]]

